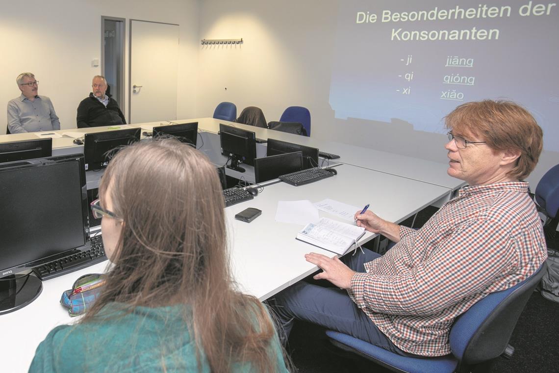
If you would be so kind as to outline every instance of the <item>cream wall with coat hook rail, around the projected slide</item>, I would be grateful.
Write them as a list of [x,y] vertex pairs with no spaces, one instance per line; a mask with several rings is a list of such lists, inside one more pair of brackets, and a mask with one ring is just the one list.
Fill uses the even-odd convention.
[[[446,162],[446,135],[397,120],[334,118],[328,100],[338,3],[343,6],[337,0],[201,2],[201,39],[242,37],[244,43],[200,47],[198,116],[210,116],[221,101],[234,102],[238,112],[258,106],[267,121],[279,120],[288,106],[305,106],[312,137]],[[528,178],[532,188],[557,163],[559,153],[542,153]]]

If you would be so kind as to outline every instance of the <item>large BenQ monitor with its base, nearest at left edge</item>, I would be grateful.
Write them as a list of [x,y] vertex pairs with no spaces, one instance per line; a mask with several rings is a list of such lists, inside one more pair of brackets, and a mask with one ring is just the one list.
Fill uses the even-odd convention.
[[82,154],[0,164],[0,314],[39,296],[31,268],[89,243]]

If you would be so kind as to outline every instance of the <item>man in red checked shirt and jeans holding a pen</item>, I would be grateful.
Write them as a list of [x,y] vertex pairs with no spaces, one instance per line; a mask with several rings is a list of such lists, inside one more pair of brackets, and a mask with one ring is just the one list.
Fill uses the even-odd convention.
[[515,103],[490,100],[458,106],[446,126],[447,172],[468,186],[419,230],[356,213],[359,226],[396,243],[382,257],[306,254],[323,270],[314,278],[340,289],[301,281],[276,295],[287,336],[302,319],[400,355],[446,355],[458,315],[542,265],[542,226],[522,181],[538,162],[541,128]]

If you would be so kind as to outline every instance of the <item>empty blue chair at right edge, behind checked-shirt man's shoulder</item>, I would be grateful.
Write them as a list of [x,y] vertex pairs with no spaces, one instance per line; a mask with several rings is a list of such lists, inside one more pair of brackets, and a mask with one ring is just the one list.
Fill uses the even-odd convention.
[[543,232],[549,243],[551,238],[555,238],[559,223],[559,164],[543,175],[536,186],[534,197],[538,205],[538,211],[545,215],[545,219],[542,219],[544,220]]

